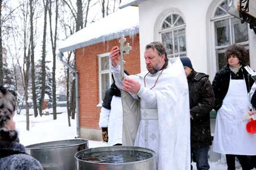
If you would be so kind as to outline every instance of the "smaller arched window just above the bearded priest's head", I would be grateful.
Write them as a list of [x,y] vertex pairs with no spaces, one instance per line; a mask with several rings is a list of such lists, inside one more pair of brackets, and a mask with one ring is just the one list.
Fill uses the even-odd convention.
[[168,14],[159,27],[159,38],[168,57],[187,56],[185,22],[179,14]]

